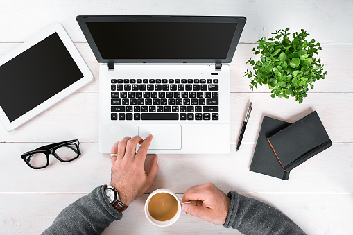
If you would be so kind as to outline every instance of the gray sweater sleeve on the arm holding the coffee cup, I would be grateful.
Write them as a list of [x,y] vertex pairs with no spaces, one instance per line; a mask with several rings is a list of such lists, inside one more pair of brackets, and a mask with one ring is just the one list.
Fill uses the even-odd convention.
[[305,234],[298,225],[281,211],[230,191],[230,210],[224,227],[232,227],[243,234]]

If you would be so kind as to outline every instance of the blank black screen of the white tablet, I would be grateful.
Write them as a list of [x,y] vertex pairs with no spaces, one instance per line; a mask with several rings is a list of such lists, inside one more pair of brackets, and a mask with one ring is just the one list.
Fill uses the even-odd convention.
[[0,66],[0,106],[15,121],[80,78],[83,73],[53,33]]

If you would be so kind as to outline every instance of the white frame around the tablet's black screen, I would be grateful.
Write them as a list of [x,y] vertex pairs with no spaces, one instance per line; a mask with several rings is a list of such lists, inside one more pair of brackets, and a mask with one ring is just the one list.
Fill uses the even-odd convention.
[[[15,119],[12,122],[10,122],[8,116],[6,116],[5,112],[3,112],[3,109],[0,106],[0,122],[2,123],[3,127],[8,131],[14,130],[15,128],[19,127],[19,125],[22,125],[26,121],[33,119],[33,117],[37,116],[37,114],[40,114],[55,103],[58,103],[63,98],[69,96],[69,94],[72,94],[77,89],[80,89],[80,87],[83,87],[93,79],[92,72],[89,70],[87,64],[85,63],[85,60],[83,60],[82,56],[76,49],[76,46],[71,41],[69,35],[61,24],[51,24],[50,26],[44,28],[42,31],[35,33],[35,35],[33,35],[29,40],[26,40],[26,42],[21,46],[18,46],[16,49],[10,51],[10,53],[1,56],[0,66],[5,64],[9,60],[12,60],[12,58],[15,58],[17,55],[21,54],[27,49],[30,49],[32,46],[34,46],[38,42],[41,42],[53,33],[58,33],[60,40],[62,40],[64,46],[67,48],[67,51],[69,51],[71,57],[76,62],[78,69],[80,69],[81,73],[83,74],[83,78],[80,78],[80,80],[74,82],[69,87],[66,87],[58,94],[51,96],[51,98],[47,99],[40,105],[37,105],[32,110],[26,112],[26,114],[19,116],[19,118]],[[19,69],[21,68],[19,67]]]

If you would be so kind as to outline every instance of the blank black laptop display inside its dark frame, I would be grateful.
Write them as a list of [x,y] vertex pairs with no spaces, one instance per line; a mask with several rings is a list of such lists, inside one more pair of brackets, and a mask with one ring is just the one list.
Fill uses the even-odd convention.
[[105,60],[225,59],[237,23],[86,22]]

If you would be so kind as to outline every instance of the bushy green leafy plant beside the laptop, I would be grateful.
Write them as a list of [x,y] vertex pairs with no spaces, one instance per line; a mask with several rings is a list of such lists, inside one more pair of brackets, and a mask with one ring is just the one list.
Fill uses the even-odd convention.
[[307,97],[309,87],[313,89],[313,82],[324,79],[327,71],[323,71],[320,59],[313,58],[321,50],[319,42],[314,39],[307,41],[309,35],[304,29],[301,33],[293,33],[293,40],[289,39],[289,28],[272,33],[274,37],[261,38],[257,41],[257,49],[253,48],[255,55],[261,54],[260,60],[255,62],[250,58],[254,69],[247,70],[244,76],[250,78],[250,88],[266,84],[271,90],[271,97],[295,97],[295,101],[303,102]]

